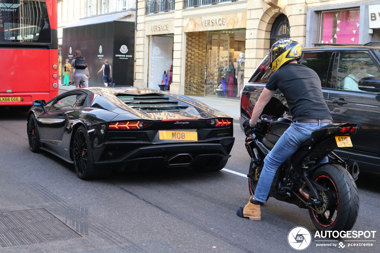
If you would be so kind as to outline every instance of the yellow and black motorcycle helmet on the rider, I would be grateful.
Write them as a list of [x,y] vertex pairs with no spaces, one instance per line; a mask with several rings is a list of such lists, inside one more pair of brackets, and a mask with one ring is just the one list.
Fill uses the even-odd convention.
[[301,58],[302,44],[291,39],[276,41],[269,51],[270,67],[275,72],[288,62]]

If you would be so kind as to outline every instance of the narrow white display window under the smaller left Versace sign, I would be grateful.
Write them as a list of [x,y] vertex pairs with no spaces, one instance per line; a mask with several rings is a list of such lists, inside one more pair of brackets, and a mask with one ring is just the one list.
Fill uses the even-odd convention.
[[151,36],[149,39],[148,87],[170,90],[173,79],[174,35]]

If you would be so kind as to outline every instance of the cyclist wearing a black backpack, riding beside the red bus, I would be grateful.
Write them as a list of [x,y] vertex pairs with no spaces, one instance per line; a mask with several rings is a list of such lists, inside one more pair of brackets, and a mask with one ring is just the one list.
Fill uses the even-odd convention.
[[[83,81],[84,88],[89,87],[90,73],[87,68],[87,63],[82,57],[82,52],[77,50],[74,52],[75,59],[71,61],[71,70],[70,70],[70,82],[69,84],[74,83],[75,89],[80,88],[79,83]],[[75,72],[74,72],[75,68]],[[74,74],[73,74],[74,72]]]

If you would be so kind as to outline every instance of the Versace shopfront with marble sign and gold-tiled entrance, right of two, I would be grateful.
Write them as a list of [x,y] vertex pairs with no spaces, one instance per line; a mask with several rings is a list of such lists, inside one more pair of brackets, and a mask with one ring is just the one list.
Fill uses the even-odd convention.
[[234,13],[184,21],[186,95],[238,99],[244,85],[246,20],[246,13]]

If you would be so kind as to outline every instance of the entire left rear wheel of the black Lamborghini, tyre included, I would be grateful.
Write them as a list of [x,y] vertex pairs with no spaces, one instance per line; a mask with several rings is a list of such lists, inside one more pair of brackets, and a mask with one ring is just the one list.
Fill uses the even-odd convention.
[[87,129],[79,126],[74,133],[71,150],[74,160],[74,168],[80,179],[105,178],[112,174],[110,168],[102,169],[93,165],[94,157],[92,153],[92,145]]

